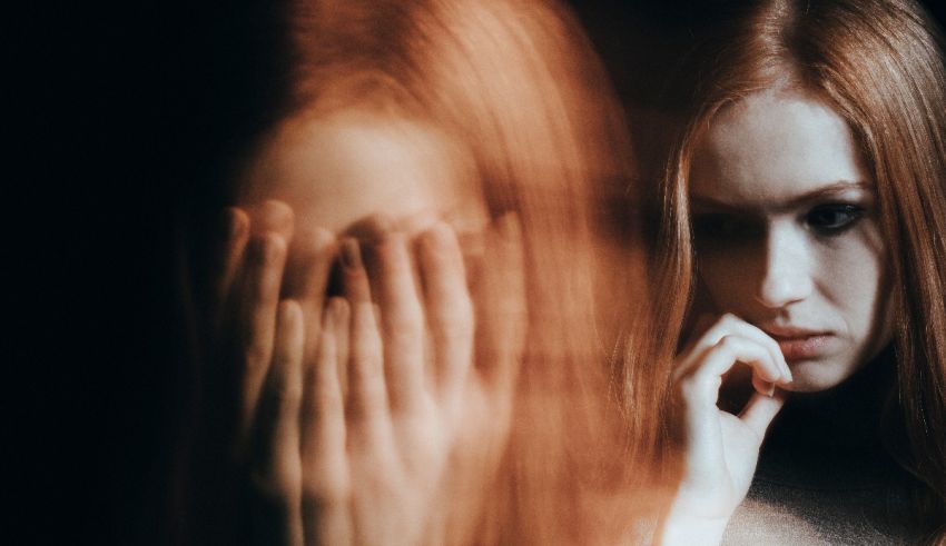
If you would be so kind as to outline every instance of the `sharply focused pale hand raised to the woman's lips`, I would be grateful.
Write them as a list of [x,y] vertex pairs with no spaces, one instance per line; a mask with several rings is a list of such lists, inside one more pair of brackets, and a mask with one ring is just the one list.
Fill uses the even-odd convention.
[[[733,415],[717,403],[722,376],[737,363],[751,367],[756,391]],[[726,315],[681,353],[673,377],[683,476],[663,542],[711,544],[749,490],[766,430],[785,401],[776,384],[791,381],[791,371],[772,338]]]

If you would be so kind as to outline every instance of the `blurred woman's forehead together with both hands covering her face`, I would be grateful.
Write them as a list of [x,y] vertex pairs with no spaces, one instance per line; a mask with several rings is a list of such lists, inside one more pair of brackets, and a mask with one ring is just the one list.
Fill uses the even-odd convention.
[[[467,159],[427,126],[316,121],[289,120],[264,147],[265,183],[293,207],[234,208],[219,280],[242,309],[225,335],[245,340],[235,450],[275,507],[254,538],[464,542],[475,519],[444,499],[480,506],[505,445],[526,322],[518,221],[486,226]],[[339,187],[346,199],[326,198]],[[457,239],[471,226],[473,258]],[[491,264],[473,291],[471,259]],[[328,298],[333,264],[343,289]]]

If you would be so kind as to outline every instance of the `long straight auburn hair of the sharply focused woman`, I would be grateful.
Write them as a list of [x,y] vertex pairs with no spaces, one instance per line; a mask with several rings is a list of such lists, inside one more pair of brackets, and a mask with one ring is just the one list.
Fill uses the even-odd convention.
[[[711,32],[689,125],[650,207],[654,350],[672,358],[693,298],[688,217],[693,145],[729,103],[779,86],[812,91],[846,119],[874,178],[890,257],[906,453],[928,487],[920,512],[946,538],[946,68],[944,42],[911,0],[765,0]],[[681,289],[683,287],[683,289]],[[666,360],[664,360],[666,361]]]

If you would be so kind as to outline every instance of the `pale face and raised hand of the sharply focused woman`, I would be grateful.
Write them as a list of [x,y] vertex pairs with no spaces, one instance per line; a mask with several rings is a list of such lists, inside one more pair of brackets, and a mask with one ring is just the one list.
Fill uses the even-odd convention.
[[[684,475],[664,544],[718,543],[785,397],[841,384],[891,338],[873,181],[818,96],[771,89],[721,110],[694,146],[689,195],[701,297],[722,317],[678,357]],[[755,394],[733,415],[717,404],[740,366]]]

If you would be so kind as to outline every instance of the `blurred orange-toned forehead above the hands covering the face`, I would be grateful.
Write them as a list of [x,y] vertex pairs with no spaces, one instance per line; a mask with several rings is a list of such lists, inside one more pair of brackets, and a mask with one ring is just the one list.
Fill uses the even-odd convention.
[[475,203],[474,170],[464,148],[431,126],[349,111],[278,128],[242,200],[282,199],[297,221],[342,232],[378,212],[410,224]]

